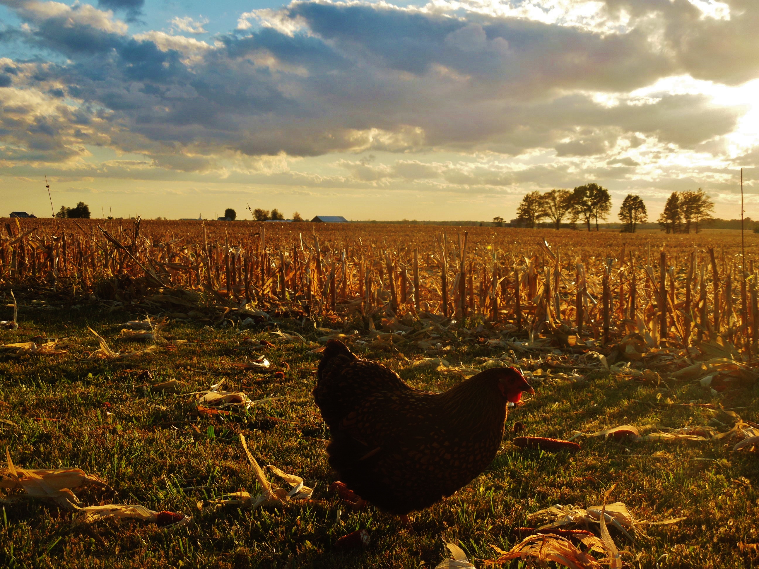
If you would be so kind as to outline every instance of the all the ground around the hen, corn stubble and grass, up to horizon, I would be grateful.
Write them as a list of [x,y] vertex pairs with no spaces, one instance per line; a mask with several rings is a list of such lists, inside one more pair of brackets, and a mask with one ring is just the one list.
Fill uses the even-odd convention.
[[[11,220],[3,564],[751,566],[759,236],[445,229]],[[536,394],[406,533],[335,484],[329,339]]]

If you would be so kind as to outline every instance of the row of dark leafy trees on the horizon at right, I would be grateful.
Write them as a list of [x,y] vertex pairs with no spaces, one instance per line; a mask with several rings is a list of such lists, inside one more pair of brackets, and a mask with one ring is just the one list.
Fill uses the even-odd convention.
[[[599,220],[605,221],[612,209],[609,190],[598,184],[585,184],[574,190],[550,190],[540,193],[535,190],[525,195],[517,208],[517,225],[528,228],[548,220],[556,229],[562,222],[572,225],[581,221],[591,231],[591,223],[599,231]],[[690,233],[691,228],[698,233],[704,222],[712,220],[714,203],[701,188],[698,191],[672,192],[663,213],[657,220],[662,231],[667,233]],[[641,196],[628,193],[619,208],[622,233],[635,233],[638,225],[647,222],[646,204]],[[502,217],[493,218],[496,225],[503,225]]]

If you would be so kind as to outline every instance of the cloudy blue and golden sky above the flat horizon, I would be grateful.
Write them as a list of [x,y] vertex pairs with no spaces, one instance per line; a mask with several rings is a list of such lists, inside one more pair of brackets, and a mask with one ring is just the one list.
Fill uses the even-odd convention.
[[756,0],[0,0],[0,203],[510,219],[594,182],[759,218]]

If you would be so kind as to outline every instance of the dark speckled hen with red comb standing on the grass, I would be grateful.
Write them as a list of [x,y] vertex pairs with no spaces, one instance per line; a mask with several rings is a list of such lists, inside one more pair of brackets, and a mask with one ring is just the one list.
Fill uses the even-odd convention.
[[506,407],[534,393],[513,367],[487,369],[441,394],[326,344],[313,398],[329,426],[329,464],[355,494],[405,517],[478,476],[501,445]]

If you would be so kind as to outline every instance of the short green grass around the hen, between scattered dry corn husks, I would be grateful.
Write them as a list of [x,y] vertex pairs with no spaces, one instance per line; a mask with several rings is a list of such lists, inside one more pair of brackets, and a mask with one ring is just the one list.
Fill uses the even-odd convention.
[[[519,451],[509,442],[515,421],[524,423],[528,435],[559,438],[624,423],[679,427],[704,425],[713,417],[729,423],[719,411],[660,407],[657,395],[662,391],[657,387],[600,373],[581,382],[543,382],[535,397],[509,413],[493,464],[452,498],[415,514],[417,533],[409,535],[395,517],[371,507],[350,511],[329,492],[335,479],[324,450],[329,432],[310,398],[319,360],[310,353],[317,346],[313,322],[303,328],[301,322],[282,325],[306,335],[310,344],[275,342],[276,347],[265,351],[272,363],[289,366],[285,379],[275,381],[229,365],[264,353],[241,347],[238,340],[245,334],[235,335],[231,328],[170,324],[165,335],[189,341],[177,351],[159,349],[127,363],[87,359],[84,352],[97,347],[87,325],[116,350],[142,345],[115,338],[120,329],[116,324],[140,313],[88,310],[22,307],[21,328],[0,332],[2,344],[45,335],[65,337],[62,344],[70,349],[53,357],[0,355],[0,417],[17,425],[0,423],[0,450],[7,445],[14,462],[23,467],[81,467],[106,478],[118,492],[106,500],[181,510],[193,522],[168,531],[139,522],[71,527],[70,512],[41,501],[21,501],[0,508],[2,567],[435,567],[448,556],[446,541],[458,542],[470,559],[493,558],[490,544],[509,549],[518,542],[512,528],[528,525],[527,514],[557,502],[600,504],[615,483],[612,500],[625,502],[638,519],[687,517],[672,526],[645,527],[635,542],[613,530],[619,549],[631,553],[625,560],[632,567],[657,567],[657,560],[660,567],[757,564],[737,543],[759,542],[759,495],[754,489],[759,461],[752,454],[733,453],[732,443],[580,439],[581,451],[571,455]],[[271,340],[263,329],[260,325],[247,334]],[[416,347],[402,351],[411,359],[421,354]],[[486,348],[461,344],[449,359],[471,363],[484,354]],[[431,370],[401,369],[405,361],[395,352],[369,350],[362,355],[400,369],[417,388],[448,388],[458,381]],[[228,389],[245,391],[251,399],[281,399],[231,420],[199,418],[191,414],[187,395],[140,387],[145,381],[137,376],[143,369],[153,373],[155,382],[187,382],[186,391],[208,388],[225,377]],[[671,401],[711,401],[698,386],[669,385],[671,391],[664,395]],[[757,420],[754,393],[740,405],[749,407],[739,411],[745,420]],[[198,511],[198,500],[257,491],[240,433],[260,464],[274,464],[304,476],[309,486],[315,484],[313,500],[284,509]],[[92,490],[77,495],[88,505],[104,499]],[[335,551],[339,537],[361,528],[370,532],[368,549]],[[515,561],[509,567],[524,564]]]

